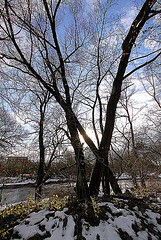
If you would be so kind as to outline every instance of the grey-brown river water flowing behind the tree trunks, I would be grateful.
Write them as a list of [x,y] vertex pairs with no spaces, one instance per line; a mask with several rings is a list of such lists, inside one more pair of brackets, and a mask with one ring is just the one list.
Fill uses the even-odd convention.
[[[126,191],[126,189],[131,189],[133,187],[133,183],[131,180],[119,180],[118,181],[122,191]],[[149,185],[149,182],[146,181],[146,184]],[[158,184],[161,184],[161,179]],[[65,195],[70,195],[74,193],[75,183],[52,183],[47,184],[43,187],[43,197],[52,197],[53,195],[58,195],[63,197]],[[4,188],[0,189],[0,197],[1,197],[1,206],[5,204],[17,203],[21,201],[25,201],[28,198],[34,199],[35,188],[32,186],[23,186],[23,187],[12,187],[12,188]]]

